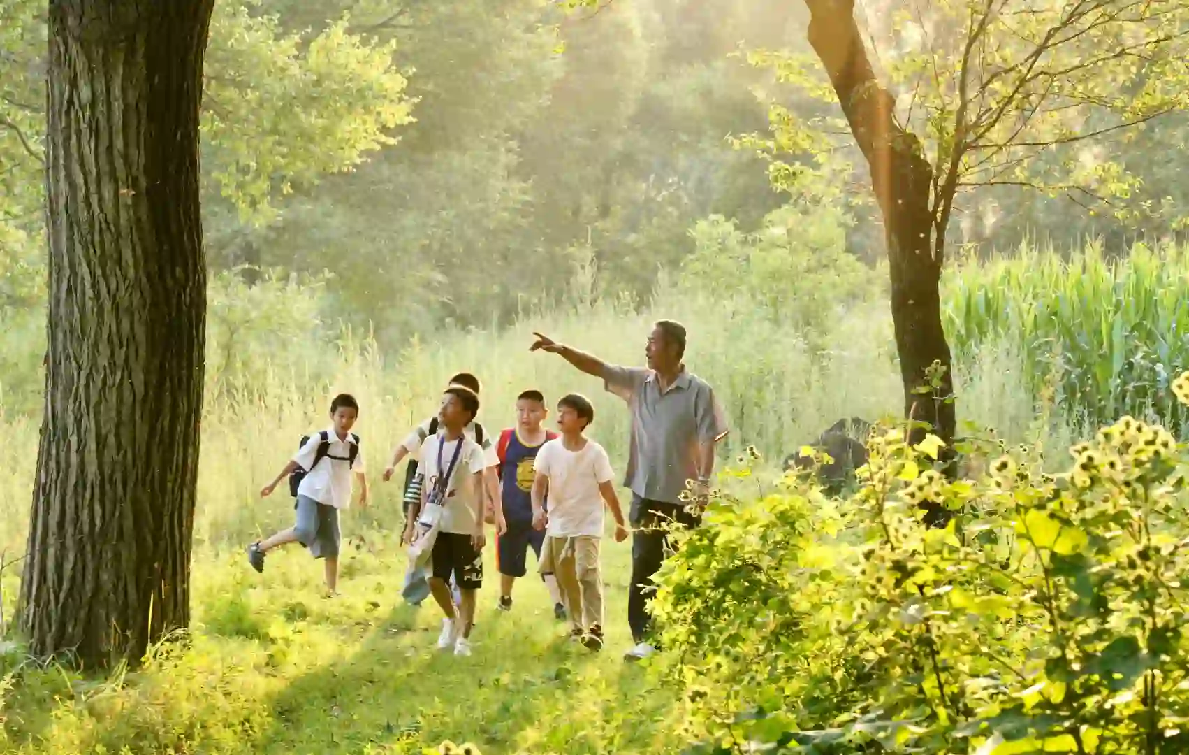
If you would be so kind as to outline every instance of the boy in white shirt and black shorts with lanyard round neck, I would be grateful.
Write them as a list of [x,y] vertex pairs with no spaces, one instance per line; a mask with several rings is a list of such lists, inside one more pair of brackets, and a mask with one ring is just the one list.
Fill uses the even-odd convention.
[[[439,411],[441,430],[421,447],[424,485],[421,501],[409,509],[404,541],[413,540],[417,518],[438,517],[429,590],[446,617],[438,637],[441,650],[453,646],[455,655],[471,654],[476,591],[483,586],[483,474],[487,468],[483,448],[464,432],[479,411],[479,397],[463,385],[446,389]],[[453,577],[458,606],[447,581]]]

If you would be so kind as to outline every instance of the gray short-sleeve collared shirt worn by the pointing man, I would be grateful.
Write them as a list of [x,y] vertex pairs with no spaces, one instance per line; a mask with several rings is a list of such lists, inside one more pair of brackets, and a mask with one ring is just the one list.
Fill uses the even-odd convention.
[[624,486],[641,498],[680,503],[685,482],[698,477],[698,447],[726,429],[713,389],[682,371],[661,391],[652,370],[616,365],[606,366],[603,382],[631,411]]

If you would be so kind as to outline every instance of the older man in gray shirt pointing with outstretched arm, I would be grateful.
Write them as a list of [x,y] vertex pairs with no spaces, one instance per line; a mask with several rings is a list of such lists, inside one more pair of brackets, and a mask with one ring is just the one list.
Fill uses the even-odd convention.
[[[540,333],[531,351],[547,351],[587,375],[603,380],[608,392],[628,403],[631,445],[624,485],[631,489],[631,590],[628,623],[635,647],[627,660],[640,660],[655,649],[648,642],[650,617],[646,591],[653,584],[668,550],[668,537],[658,524],[675,521],[697,527],[715,466],[715,443],[726,433],[715,391],[687,372],[685,328],[662,320],[653,327],[644,354],[648,367],[609,365],[591,354],[558,344]],[[682,501],[686,480],[697,505]],[[688,497],[688,496],[686,496]]]

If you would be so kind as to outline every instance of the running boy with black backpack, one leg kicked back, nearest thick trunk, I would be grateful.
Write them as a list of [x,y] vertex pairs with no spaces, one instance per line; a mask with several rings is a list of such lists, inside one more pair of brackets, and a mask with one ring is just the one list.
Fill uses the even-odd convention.
[[257,572],[264,571],[269,550],[300,542],[315,559],[325,560],[326,587],[334,594],[339,581],[339,509],[351,505],[352,473],[359,478],[359,505],[367,507],[364,457],[359,436],[351,432],[358,417],[359,404],[352,396],[335,396],[331,402],[331,427],[302,439],[297,455],[260,490],[260,497],[268,497],[289,477],[296,515],[289,529],[249,546],[247,560]]

